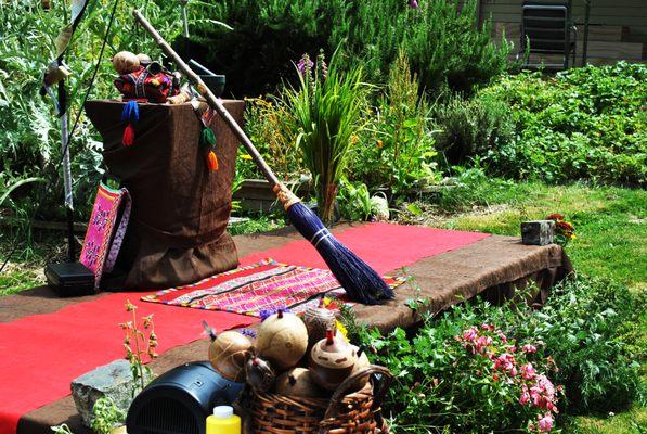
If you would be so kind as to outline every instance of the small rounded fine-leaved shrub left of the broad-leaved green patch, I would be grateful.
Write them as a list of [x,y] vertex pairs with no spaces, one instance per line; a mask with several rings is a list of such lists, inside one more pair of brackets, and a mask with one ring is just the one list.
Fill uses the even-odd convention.
[[436,149],[452,165],[497,150],[515,133],[509,107],[490,98],[464,100],[454,95],[437,104],[432,116],[438,129]]

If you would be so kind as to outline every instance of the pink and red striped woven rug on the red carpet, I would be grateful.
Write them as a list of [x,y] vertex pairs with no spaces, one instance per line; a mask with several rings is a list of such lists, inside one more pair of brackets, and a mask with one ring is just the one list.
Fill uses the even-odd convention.
[[[391,289],[403,277],[384,277]],[[144,302],[261,317],[263,310],[287,308],[299,314],[322,296],[351,304],[329,270],[277,263],[271,258],[215,275],[197,283],[171,288],[142,297]]]

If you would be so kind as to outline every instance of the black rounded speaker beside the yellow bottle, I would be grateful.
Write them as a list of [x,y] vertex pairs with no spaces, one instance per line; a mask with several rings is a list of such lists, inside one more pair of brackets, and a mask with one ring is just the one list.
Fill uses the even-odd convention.
[[185,363],[153,380],[128,409],[128,434],[205,434],[216,406],[231,406],[243,383],[223,379],[208,361]]

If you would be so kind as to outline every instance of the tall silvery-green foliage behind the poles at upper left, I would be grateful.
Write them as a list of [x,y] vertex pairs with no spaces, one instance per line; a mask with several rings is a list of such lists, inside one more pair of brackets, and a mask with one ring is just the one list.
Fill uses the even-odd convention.
[[[70,126],[87,91],[107,27],[109,13],[106,10],[112,3],[89,3],[66,53],[65,61],[72,72],[66,82]],[[181,31],[178,24],[181,23],[180,10],[176,4],[143,0],[134,4],[121,3],[90,99],[118,95],[113,85],[116,73],[108,61],[115,52],[127,49],[147,52],[154,58],[159,55],[155,42],[142,37],[142,30],[130,30],[133,27],[133,7],[142,9],[165,37],[172,39]],[[26,0],[7,1],[0,8],[0,21],[5,23],[0,38],[0,165],[3,174],[12,179],[36,176],[48,181],[46,192],[36,186],[12,195],[11,204],[16,208],[14,214],[27,221],[41,199],[42,206],[37,218],[64,218],[59,118],[53,114],[49,97],[41,97],[39,90],[44,67],[55,56],[53,39],[66,24],[68,9],[68,2],[52,1],[51,10],[46,11],[41,2]],[[194,16],[191,15],[191,18]],[[75,210],[77,218],[85,219],[89,216],[102,169],[100,137],[86,123],[83,115],[69,149],[75,179]]]

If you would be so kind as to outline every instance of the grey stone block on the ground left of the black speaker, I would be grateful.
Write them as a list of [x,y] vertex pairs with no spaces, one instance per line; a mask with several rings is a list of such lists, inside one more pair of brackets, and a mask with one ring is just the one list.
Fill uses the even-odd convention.
[[70,387],[72,397],[83,424],[90,426],[94,419],[92,414],[94,403],[103,396],[108,396],[119,409],[128,412],[135,384],[130,363],[127,360],[115,360],[82,374],[72,382]]

